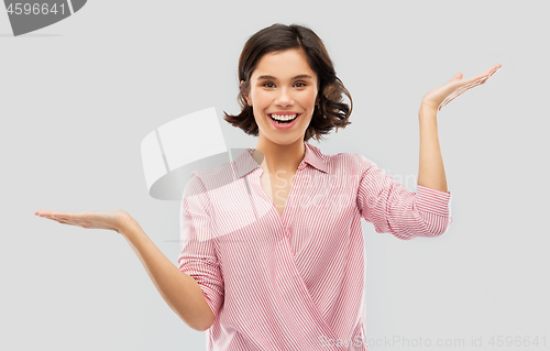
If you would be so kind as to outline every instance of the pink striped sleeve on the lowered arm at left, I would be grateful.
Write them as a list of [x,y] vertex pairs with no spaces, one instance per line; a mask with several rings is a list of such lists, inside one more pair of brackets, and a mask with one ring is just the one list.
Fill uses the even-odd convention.
[[178,267],[200,286],[215,316],[223,303],[223,276],[216,254],[208,193],[195,174],[186,186],[180,208],[182,251]]

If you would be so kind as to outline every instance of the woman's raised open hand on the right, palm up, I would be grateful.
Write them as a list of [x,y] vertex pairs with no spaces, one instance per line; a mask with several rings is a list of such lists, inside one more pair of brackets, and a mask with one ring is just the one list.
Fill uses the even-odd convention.
[[485,73],[475,76],[473,78],[462,80],[462,73],[455,74],[451,80],[444,86],[437,87],[436,89],[428,92],[422,99],[422,106],[431,109],[437,109],[440,111],[443,106],[451,102],[455,97],[462,95],[464,91],[472,89],[479,85],[485,84],[485,81],[491,78],[502,65],[495,65],[487,69]]

